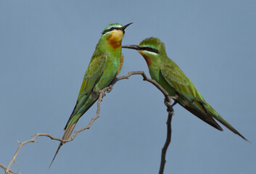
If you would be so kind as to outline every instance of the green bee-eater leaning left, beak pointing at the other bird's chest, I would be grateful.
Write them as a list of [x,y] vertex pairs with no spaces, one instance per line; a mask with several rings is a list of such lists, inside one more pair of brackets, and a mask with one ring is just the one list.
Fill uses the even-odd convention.
[[[123,48],[136,49],[146,60],[149,67],[151,78],[156,80],[170,96],[178,96],[176,102],[182,107],[189,110],[192,114],[199,117],[209,125],[218,130],[223,130],[220,125],[213,119],[226,126],[232,132],[244,138],[235,128],[232,127],[223,117],[205,101],[199,94],[197,88],[184,74],[173,60],[168,58],[165,52],[165,44],[158,38],[146,38],[137,45],[123,46]],[[244,138],[247,140],[247,138]]]

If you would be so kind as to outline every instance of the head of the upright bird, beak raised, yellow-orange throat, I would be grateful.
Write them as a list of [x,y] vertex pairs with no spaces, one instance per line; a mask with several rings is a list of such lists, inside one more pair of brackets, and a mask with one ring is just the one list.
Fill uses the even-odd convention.
[[107,25],[107,28],[102,31],[102,38],[106,40],[113,49],[117,49],[117,47],[121,46],[125,28],[132,23],[133,22],[124,26],[120,25],[119,23]]

